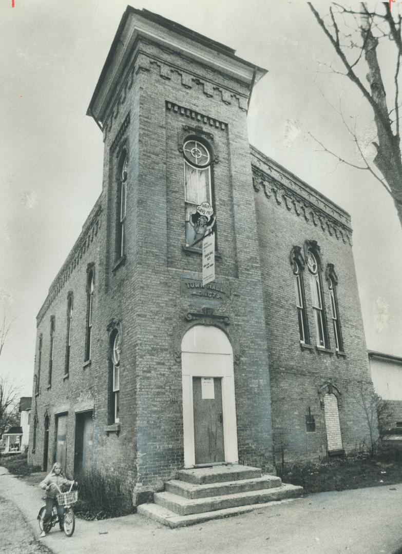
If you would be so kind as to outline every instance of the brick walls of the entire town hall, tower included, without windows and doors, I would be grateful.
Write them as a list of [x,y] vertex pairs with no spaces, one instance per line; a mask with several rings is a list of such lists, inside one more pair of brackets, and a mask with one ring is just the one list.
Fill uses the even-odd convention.
[[[92,411],[93,465],[135,484],[138,493],[161,488],[184,464],[180,343],[195,323],[220,327],[233,348],[240,463],[272,471],[274,450],[276,461],[282,455],[287,460],[325,455],[323,398],[332,384],[339,393],[343,446],[357,448],[366,430],[351,398],[358,376],[369,379],[369,374],[348,214],[261,153],[250,153],[245,83],[142,39],[130,56],[105,109],[100,199],[38,314],[42,368],[32,407],[36,448],[33,452],[31,425],[29,460],[42,464],[49,416],[50,467],[55,421],[67,413],[72,475],[75,419]],[[201,255],[185,248],[182,144],[187,136],[202,137],[213,157],[218,293],[208,288],[192,294],[189,285],[201,279]],[[126,243],[120,258],[118,165],[124,149]],[[301,198],[314,206],[316,217]],[[337,271],[344,355],[333,347],[302,349],[299,343],[289,253],[306,239],[317,241],[323,265],[332,263]],[[91,360],[85,364],[88,264],[94,264],[95,290]],[[323,285],[329,318],[324,277]],[[69,291],[74,305],[65,378]],[[54,364],[47,387],[52,316]],[[308,317],[313,336],[312,312]],[[116,328],[121,334],[120,423],[108,425],[109,337]],[[38,356],[35,373],[37,365]],[[314,417],[314,432],[306,432],[306,414]]]

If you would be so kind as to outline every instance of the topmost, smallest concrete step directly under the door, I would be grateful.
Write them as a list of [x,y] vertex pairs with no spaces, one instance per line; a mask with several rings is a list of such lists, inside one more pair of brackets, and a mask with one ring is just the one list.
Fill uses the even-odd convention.
[[209,468],[181,469],[177,472],[180,481],[205,485],[207,483],[221,483],[222,481],[238,481],[261,477],[261,469],[247,465],[227,464],[215,465]]

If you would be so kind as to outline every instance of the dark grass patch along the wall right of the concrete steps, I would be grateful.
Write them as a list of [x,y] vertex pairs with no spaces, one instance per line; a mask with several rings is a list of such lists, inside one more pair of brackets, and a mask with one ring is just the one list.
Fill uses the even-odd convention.
[[387,486],[402,483],[402,459],[384,455],[370,458],[359,454],[323,460],[320,463],[293,464],[278,475],[284,483],[303,486],[306,493],[359,489],[367,486]]

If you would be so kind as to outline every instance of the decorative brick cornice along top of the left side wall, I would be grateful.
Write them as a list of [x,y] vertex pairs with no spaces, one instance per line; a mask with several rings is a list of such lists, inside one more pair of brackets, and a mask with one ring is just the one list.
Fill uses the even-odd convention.
[[74,244],[74,247],[69,253],[67,260],[65,260],[62,266],[62,269],[60,269],[57,277],[50,285],[48,296],[44,301],[42,307],[40,308],[36,318],[37,327],[39,326],[40,322],[43,320],[43,317],[45,316],[49,307],[53,304],[53,301],[55,300],[55,298],[58,296],[60,291],[63,290],[64,285],[68,282],[75,268],[78,268],[86,250],[89,249],[91,243],[94,242],[96,236],[98,235],[98,231],[100,228],[101,211],[102,211],[102,207],[99,204],[98,208],[96,208],[88,224],[85,225],[85,228],[80,234],[77,242]]

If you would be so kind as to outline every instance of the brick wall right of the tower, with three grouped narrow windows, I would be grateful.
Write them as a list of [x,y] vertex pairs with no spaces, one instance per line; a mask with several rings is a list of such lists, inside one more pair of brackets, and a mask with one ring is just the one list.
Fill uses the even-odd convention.
[[[327,384],[339,390],[343,448],[350,452],[369,444],[359,400],[359,384],[372,391],[363,321],[352,253],[352,230],[346,212],[252,149],[258,237],[264,281],[267,342],[270,357],[272,418],[276,459],[319,458],[327,454],[323,395]],[[322,285],[329,348],[316,348],[316,329],[307,267],[304,287],[311,348],[302,348],[296,309],[294,275],[289,254],[303,252],[306,240],[316,240],[322,261]],[[331,305],[325,268],[334,265],[344,353],[334,347]],[[366,386],[367,384],[367,386]],[[319,393],[320,389],[322,393]],[[316,431],[306,432],[311,410]]]

